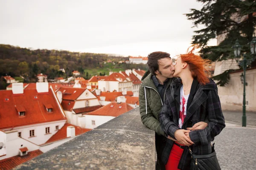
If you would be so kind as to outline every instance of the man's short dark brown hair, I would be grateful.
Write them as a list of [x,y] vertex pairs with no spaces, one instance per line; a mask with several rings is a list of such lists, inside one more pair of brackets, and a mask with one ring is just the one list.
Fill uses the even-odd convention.
[[169,53],[156,51],[148,54],[148,68],[151,74],[156,75],[155,72],[159,69],[158,59],[171,58]]

